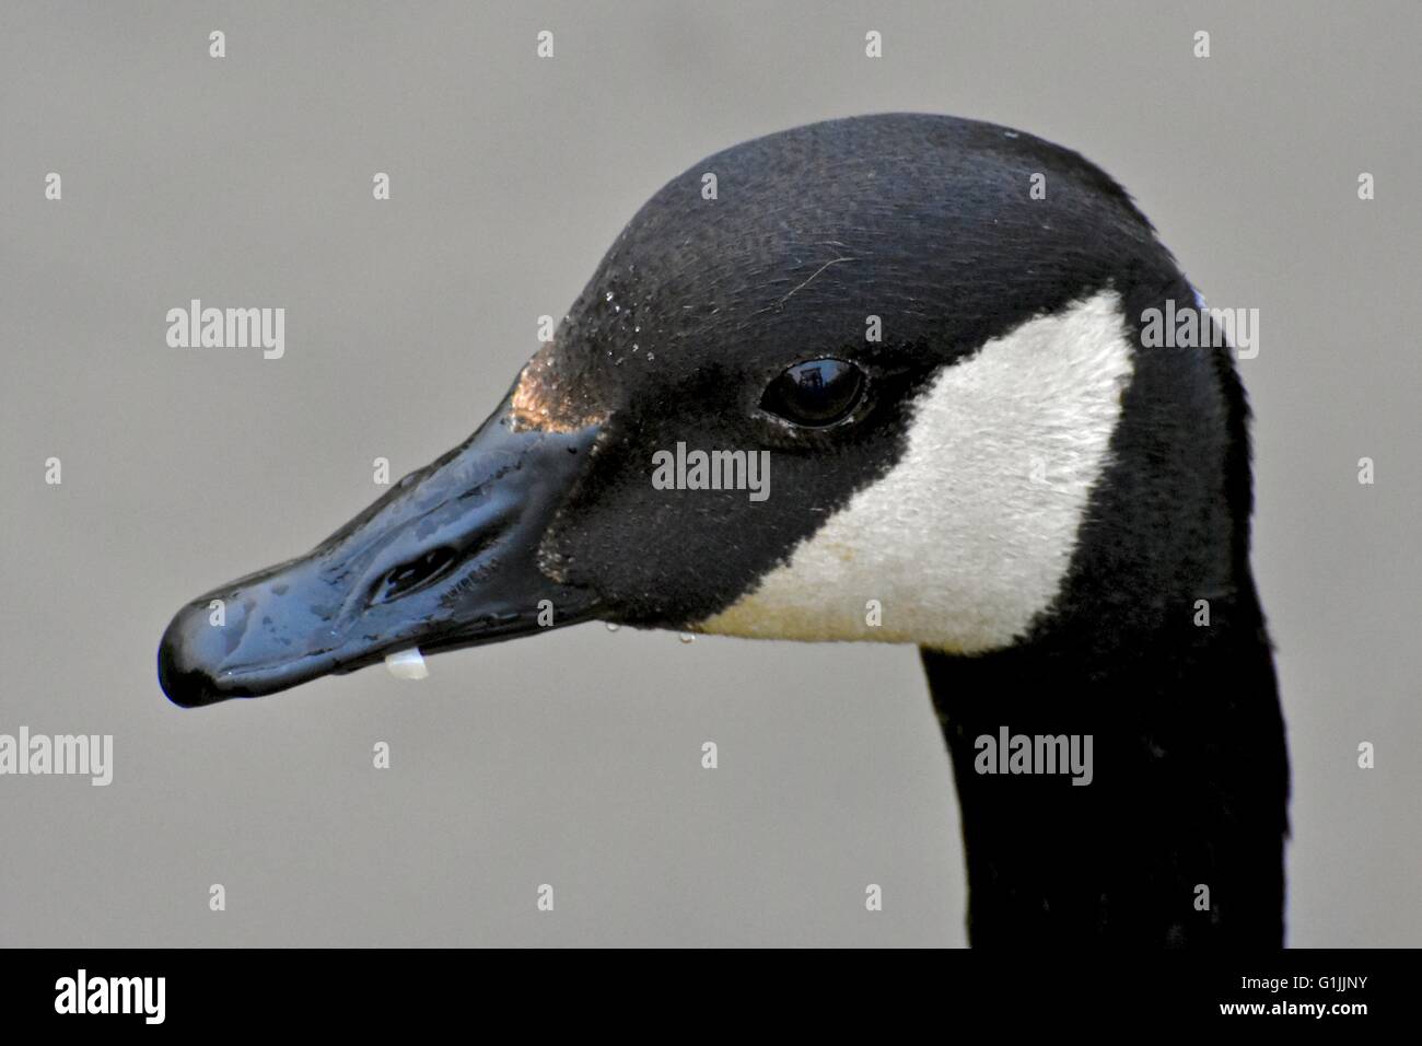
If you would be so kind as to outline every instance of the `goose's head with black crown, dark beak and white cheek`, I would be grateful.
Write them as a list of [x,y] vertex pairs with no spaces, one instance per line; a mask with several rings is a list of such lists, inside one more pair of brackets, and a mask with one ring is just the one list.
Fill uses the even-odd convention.
[[727,149],[641,208],[468,441],[179,609],[162,689],[208,704],[587,619],[1039,642],[1079,613],[1088,545],[1140,586],[1189,555],[1143,542],[1212,501],[1219,380],[1148,366],[1133,317],[1190,295],[1115,182],[1028,134],[883,115]]

